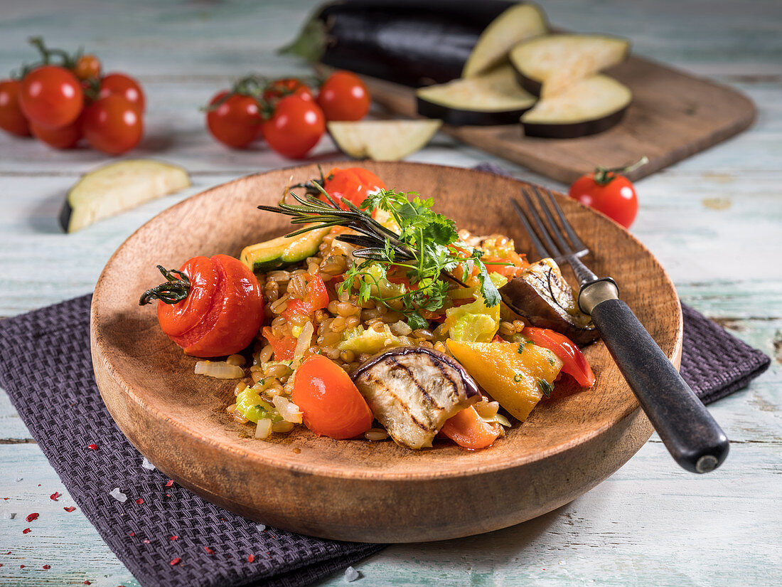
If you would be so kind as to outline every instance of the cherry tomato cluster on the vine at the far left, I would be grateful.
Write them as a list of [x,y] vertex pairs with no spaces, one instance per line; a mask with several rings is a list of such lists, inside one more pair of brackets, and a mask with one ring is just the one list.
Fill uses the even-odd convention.
[[71,56],[30,43],[41,60],[18,77],[0,81],[0,128],[33,135],[56,149],[72,149],[81,139],[109,155],[133,149],[142,139],[144,92],[133,77],[102,74],[94,55]]

